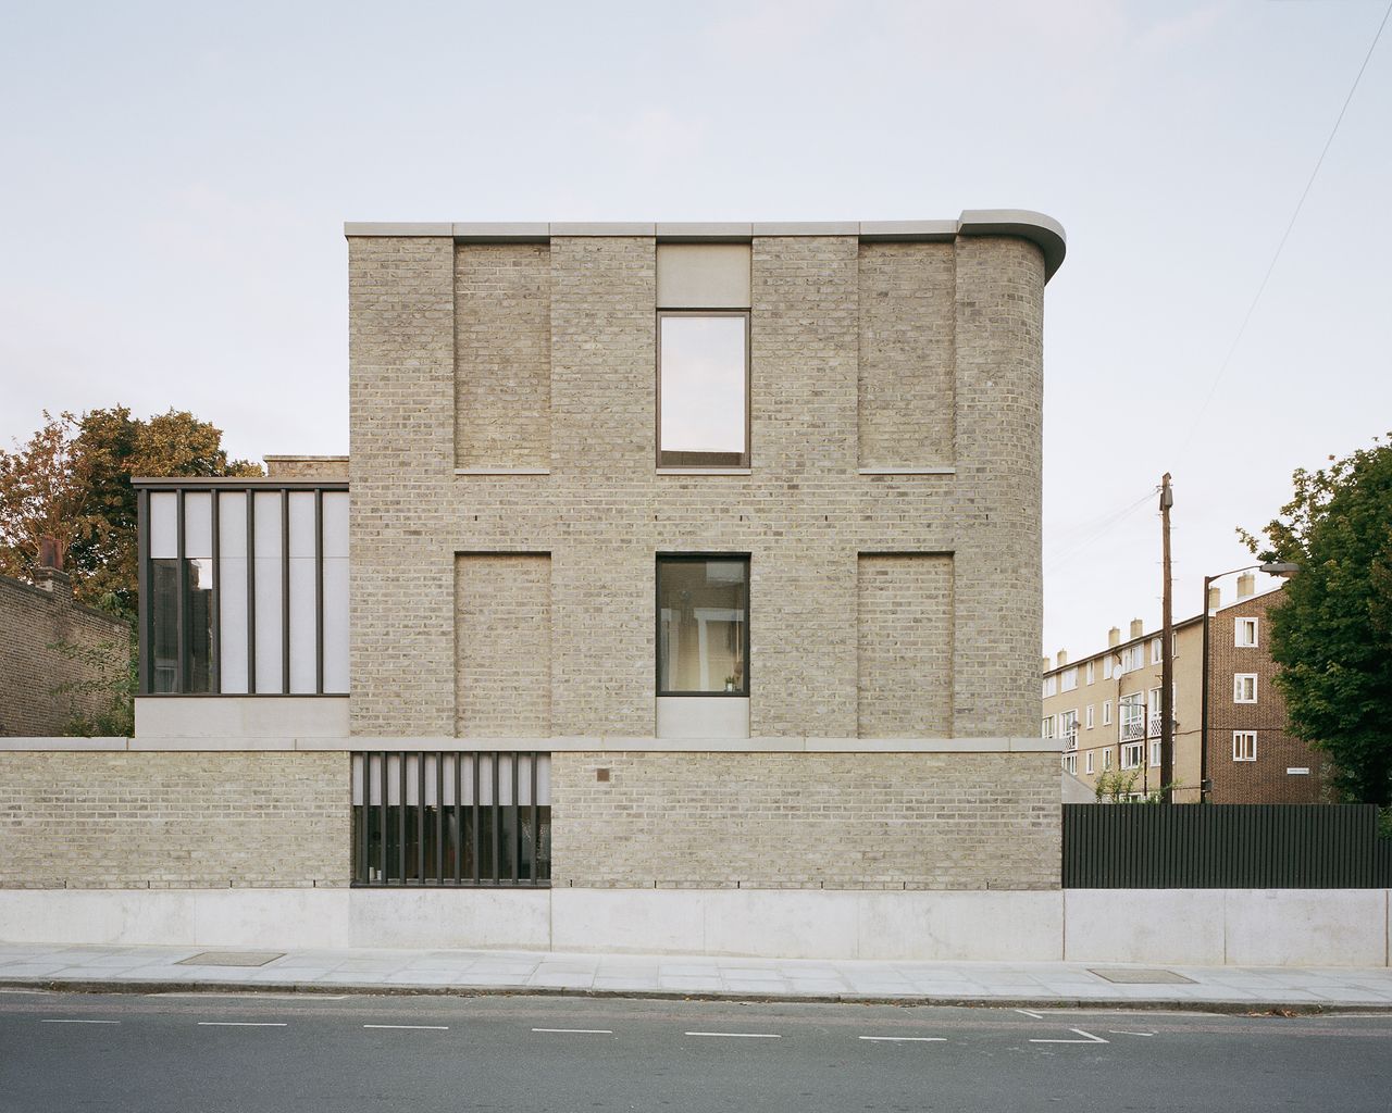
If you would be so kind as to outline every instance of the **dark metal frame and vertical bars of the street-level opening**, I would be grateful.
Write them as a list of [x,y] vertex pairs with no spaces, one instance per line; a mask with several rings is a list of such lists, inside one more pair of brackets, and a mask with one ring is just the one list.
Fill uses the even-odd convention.
[[[445,806],[444,801],[444,760],[445,757],[454,757],[454,804]],[[535,750],[369,750],[354,754],[354,769],[352,776],[356,785],[359,771],[362,774],[362,804],[352,806],[352,882],[351,886],[355,889],[402,889],[402,888],[430,888],[430,889],[550,889],[551,888],[551,860],[550,856],[541,858],[541,807],[550,810],[551,804],[540,804],[537,801],[537,769],[541,758],[550,758],[551,754],[547,751]],[[408,804],[406,797],[406,768],[409,760],[416,760],[416,803]],[[518,803],[522,793],[519,792],[519,769],[522,767],[522,760],[530,758],[530,803]],[[398,803],[391,804],[391,789],[394,786],[387,783],[387,778],[391,775],[391,761],[397,761],[395,775],[400,783],[395,786],[398,792]],[[490,767],[493,771],[491,804],[480,803],[480,769],[483,768],[484,760],[490,760]],[[380,778],[373,780],[373,762],[380,762]],[[473,762],[473,794],[472,800],[464,801],[464,765],[466,761]],[[498,776],[498,769],[501,762],[509,761],[512,765],[512,803],[498,804],[498,787],[501,778]],[[361,762],[361,765],[359,765]],[[434,785],[436,785],[436,808],[434,808],[434,871],[429,876],[426,875],[426,839],[423,838],[426,831],[426,769],[434,767]],[[380,800],[373,803],[373,786],[374,783],[380,787]],[[391,822],[391,808],[397,808],[395,822],[395,853],[388,861],[387,856],[387,828]],[[483,814],[483,808],[491,808],[491,828],[489,832],[489,870],[483,870],[483,854],[479,822]],[[372,879],[372,844],[369,836],[370,812],[376,810],[377,812],[377,829],[381,832],[380,844],[380,865],[381,872],[377,879]],[[503,822],[504,810],[508,812],[508,822]],[[444,868],[444,854],[443,847],[445,844],[445,824],[444,817],[447,811],[454,812],[454,831],[458,832],[458,842],[455,843],[454,854],[454,868],[445,871]],[[412,812],[408,822],[408,812]],[[530,824],[532,831],[532,857],[528,860],[529,876],[521,876],[521,864],[525,858],[525,839],[523,832],[523,814]],[[468,846],[472,847],[472,865],[473,868],[465,874],[464,872],[464,858],[465,858],[465,817],[470,818],[468,824],[468,831],[470,832]],[[509,858],[509,865],[507,870],[507,876],[500,876],[503,871],[498,870],[500,850],[503,849],[504,829],[511,829],[511,839],[507,857]],[[415,846],[415,875],[406,876],[408,870],[408,856],[406,856],[406,832],[413,829],[416,832],[416,846]],[[541,863],[546,863],[546,876],[540,876]]]

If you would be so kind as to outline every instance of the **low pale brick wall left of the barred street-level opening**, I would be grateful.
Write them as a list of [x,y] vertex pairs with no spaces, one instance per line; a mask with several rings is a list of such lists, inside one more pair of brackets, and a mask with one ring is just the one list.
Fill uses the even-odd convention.
[[347,885],[341,753],[0,753],[0,888]]

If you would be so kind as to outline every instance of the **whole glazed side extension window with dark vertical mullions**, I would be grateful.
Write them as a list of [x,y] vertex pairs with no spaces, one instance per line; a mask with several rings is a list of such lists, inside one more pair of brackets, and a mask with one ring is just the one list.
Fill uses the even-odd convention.
[[348,691],[348,490],[141,480],[141,693]]

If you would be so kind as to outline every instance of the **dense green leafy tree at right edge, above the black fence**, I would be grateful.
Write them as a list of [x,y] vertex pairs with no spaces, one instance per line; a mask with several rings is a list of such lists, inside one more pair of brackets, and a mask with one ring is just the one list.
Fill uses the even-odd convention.
[[1329,755],[1350,801],[1392,803],[1392,444],[1374,438],[1318,472],[1261,533],[1263,561],[1302,570],[1271,611],[1276,687],[1292,733]]

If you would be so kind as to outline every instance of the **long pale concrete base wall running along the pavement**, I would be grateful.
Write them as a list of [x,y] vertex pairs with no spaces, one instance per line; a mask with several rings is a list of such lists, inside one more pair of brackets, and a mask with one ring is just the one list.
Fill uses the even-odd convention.
[[1386,889],[32,889],[0,892],[0,940],[1378,967],[1389,904]]

